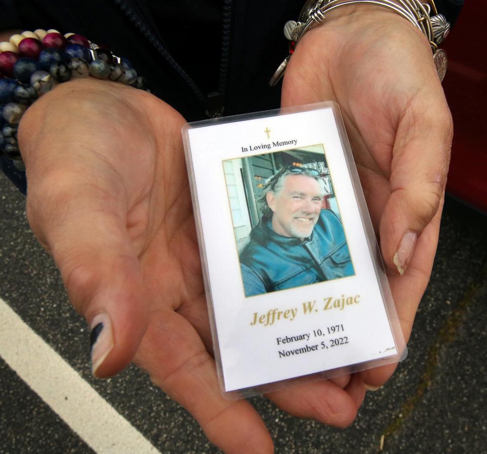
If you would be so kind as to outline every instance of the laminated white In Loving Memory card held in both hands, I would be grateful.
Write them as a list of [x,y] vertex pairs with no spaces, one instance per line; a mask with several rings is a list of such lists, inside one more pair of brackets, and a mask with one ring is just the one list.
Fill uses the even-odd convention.
[[403,359],[337,105],[191,123],[183,136],[222,393]]

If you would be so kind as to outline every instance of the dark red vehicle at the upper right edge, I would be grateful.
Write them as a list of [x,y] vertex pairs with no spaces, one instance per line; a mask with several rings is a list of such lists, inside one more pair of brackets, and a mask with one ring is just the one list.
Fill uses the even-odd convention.
[[465,2],[450,37],[443,81],[453,115],[454,138],[446,191],[487,213],[487,58],[480,20],[484,2]]

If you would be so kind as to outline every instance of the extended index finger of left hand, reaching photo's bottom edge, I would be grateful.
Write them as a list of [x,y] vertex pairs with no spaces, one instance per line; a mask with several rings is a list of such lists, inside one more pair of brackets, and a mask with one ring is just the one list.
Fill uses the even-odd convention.
[[227,454],[268,454],[272,440],[246,400],[225,400],[215,362],[193,327],[178,313],[152,313],[135,362],[169,397],[183,405],[208,439]]

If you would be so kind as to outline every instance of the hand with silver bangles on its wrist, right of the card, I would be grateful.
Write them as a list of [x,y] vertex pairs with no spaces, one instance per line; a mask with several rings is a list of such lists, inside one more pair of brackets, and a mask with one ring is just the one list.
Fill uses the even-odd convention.
[[[326,100],[340,106],[407,340],[433,266],[453,133],[426,37],[381,7],[329,13],[296,46],[282,106]],[[394,368],[361,376],[377,387]]]

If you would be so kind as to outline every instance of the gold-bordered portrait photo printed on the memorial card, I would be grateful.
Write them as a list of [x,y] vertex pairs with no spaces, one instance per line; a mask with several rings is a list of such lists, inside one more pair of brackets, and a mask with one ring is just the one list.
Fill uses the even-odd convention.
[[223,170],[246,297],[355,275],[323,145]]

